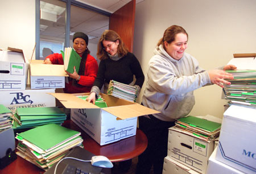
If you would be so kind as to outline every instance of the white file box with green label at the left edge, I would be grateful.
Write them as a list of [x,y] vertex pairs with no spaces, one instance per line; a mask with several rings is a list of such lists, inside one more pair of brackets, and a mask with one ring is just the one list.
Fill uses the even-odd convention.
[[0,90],[25,90],[27,65],[22,49],[0,50]]

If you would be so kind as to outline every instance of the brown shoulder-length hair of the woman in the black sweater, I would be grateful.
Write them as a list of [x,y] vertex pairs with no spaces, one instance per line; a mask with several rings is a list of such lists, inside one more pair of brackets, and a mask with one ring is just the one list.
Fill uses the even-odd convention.
[[108,53],[105,51],[102,42],[106,40],[106,41],[110,41],[110,42],[116,42],[117,40],[119,40],[119,45],[117,48],[117,53],[118,56],[123,57],[125,55],[127,55],[127,53],[129,52],[128,48],[126,47],[126,45],[122,42],[122,39],[120,38],[120,36],[117,34],[117,32],[113,31],[113,30],[105,30],[102,35],[100,40],[98,41],[98,51],[97,51],[97,57],[100,60],[105,60],[108,59]]

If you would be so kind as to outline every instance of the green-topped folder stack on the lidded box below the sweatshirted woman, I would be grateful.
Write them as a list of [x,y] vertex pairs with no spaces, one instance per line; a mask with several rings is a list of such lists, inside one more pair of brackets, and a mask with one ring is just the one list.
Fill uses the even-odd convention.
[[184,134],[209,142],[220,135],[221,123],[208,121],[207,119],[188,116],[177,119],[175,127]]

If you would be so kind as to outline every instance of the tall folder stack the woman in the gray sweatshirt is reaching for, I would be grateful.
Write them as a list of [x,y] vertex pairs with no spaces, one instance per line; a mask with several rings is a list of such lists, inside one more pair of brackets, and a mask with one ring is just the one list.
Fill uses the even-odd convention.
[[[256,69],[256,68],[255,68]],[[256,107],[256,70],[228,70],[234,79],[230,85],[224,86],[226,100],[229,105]]]

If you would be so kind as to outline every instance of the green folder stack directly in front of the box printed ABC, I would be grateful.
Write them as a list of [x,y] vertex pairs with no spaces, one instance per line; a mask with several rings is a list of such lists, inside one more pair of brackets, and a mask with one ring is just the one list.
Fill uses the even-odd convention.
[[58,107],[19,107],[14,114],[14,130],[28,129],[49,123],[61,124],[67,115]]

